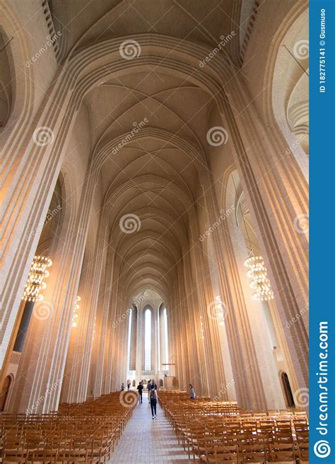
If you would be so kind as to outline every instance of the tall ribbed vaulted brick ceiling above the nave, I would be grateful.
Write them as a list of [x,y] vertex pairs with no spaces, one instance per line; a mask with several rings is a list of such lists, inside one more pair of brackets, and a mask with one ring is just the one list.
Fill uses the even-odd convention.
[[[243,3],[243,8],[242,8]],[[93,86],[83,104],[90,117],[92,151],[107,151],[101,170],[110,246],[117,255],[119,284],[129,301],[150,289],[168,298],[189,240],[189,218],[199,195],[199,164],[182,144],[203,153],[206,163],[208,114],[215,105],[192,75],[163,69],[155,62],[129,67],[146,40],[168,37],[213,50],[223,35],[236,31],[224,51],[232,66],[240,62],[240,15],[246,3],[236,0],[52,0],[55,30],[61,31],[59,62],[86,47],[119,37],[119,69]],[[249,2],[252,4],[253,2]],[[245,20],[244,20],[245,21]],[[243,34],[242,34],[243,35]],[[153,52],[154,54],[154,52]],[[160,51],[163,62],[169,50]],[[199,60],[205,56],[199,55]],[[119,57],[118,57],[119,59]],[[135,58],[136,59],[136,58]],[[134,59],[134,62],[135,62]],[[194,69],[198,72],[201,69]],[[206,69],[204,70],[206,72]],[[127,144],[119,141],[137,129]],[[178,143],[175,136],[178,137]],[[201,158],[201,156],[200,156]],[[108,205],[108,207],[106,207]]]

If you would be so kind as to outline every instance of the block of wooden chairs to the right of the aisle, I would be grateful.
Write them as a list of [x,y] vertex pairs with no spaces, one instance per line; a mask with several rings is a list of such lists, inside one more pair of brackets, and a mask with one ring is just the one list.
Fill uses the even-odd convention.
[[194,462],[308,462],[305,412],[244,412],[235,402],[189,400],[181,392],[160,393],[159,400],[179,443]]

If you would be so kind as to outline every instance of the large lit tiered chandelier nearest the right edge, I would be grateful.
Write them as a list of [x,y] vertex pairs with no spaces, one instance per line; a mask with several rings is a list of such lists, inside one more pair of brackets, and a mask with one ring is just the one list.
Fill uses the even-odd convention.
[[247,276],[251,279],[250,287],[254,290],[252,298],[258,301],[273,300],[274,291],[271,289],[263,257],[248,257],[247,260],[245,260],[245,266],[249,268]]

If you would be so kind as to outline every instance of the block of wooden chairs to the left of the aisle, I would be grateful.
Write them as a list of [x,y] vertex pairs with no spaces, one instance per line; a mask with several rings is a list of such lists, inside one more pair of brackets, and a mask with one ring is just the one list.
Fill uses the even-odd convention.
[[135,404],[125,398],[120,402],[119,393],[111,393],[81,404],[61,405],[50,414],[0,414],[1,461],[105,463]]

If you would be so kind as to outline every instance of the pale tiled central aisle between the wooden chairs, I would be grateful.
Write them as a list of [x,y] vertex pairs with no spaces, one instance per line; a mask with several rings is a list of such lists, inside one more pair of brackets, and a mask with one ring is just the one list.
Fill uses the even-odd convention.
[[157,419],[151,418],[148,397],[143,393],[143,403],[135,407],[109,462],[184,464],[192,460],[189,460],[182,446],[178,445],[175,432],[165,419],[160,405],[157,405]]

